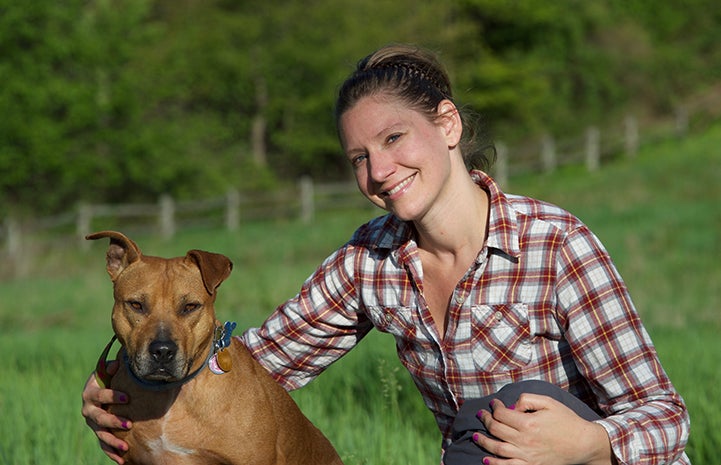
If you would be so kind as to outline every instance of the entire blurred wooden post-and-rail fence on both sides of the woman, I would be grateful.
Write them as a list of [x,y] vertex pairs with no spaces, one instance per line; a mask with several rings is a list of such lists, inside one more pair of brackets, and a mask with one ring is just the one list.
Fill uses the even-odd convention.
[[[721,92],[719,93],[721,95]],[[720,98],[721,99],[721,98]],[[706,101],[718,109],[721,102]],[[706,111],[704,111],[706,110]],[[718,112],[701,108],[697,126],[711,124]],[[698,120],[701,121],[698,121]],[[547,134],[535,146],[509,148],[497,143],[497,161],[492,174],[502,185],[524,173],[549,173],[565,165],[585,165],[596,171],[610,158],[634,157],[643,144],[661,138],[683,137],[689,130],[690,112],[679,109],[665,124],[654,124],[643,132],[639,121],[626,116],[615,126],[589,127],[576,137],[556,139]],[[130,233],[155,232],[170,238],[178,230],[197,227],[220,227],[237,230],[241,222],[298,218],[313,221],[317,212],[370,208],[371,204],[359,193],[354,182],[317,184],[302,178],[295,186],[265,193],[241,193],[229,190],[224,196],[209,199],[179,201],[161,196],[155,203],[143,204],[80,204],[74,210],[45,218],[19,221],[6,218],[0,225],[0,279],[28,273],[33,250],[38,243],[50,247],[76,240],[79,248],[88,247],[84,236],[97,229],[122,229]],[[50,245],[48,245],[50,244]],[[31,247],[35,245],[35,247]]]

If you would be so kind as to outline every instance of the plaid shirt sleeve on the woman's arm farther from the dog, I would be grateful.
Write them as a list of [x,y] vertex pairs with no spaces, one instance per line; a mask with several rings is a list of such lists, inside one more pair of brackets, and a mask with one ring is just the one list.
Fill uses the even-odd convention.
[[608,253],[581,226],[568,235],[557,260],[559,320],[607,415],[598,423],[616,458],[624,464],[683,463],[686,406]]

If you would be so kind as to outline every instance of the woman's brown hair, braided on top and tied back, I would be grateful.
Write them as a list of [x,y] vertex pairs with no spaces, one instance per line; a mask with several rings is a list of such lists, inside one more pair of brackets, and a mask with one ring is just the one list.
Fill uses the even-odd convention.
[[[363,97],[386,94],[397,98],[430,121],[438,118],[438,104],[453,102],[450,79],[432,52],[411,45],[389,45],[358,62],[341,85],[335,107],[336,127],[341,116]],[[455,103],[455,102],[454,102]],[[466,166],[487,170],[495,158],[492,144],[477,137],[481,133],[477,115],[459,109],[463,122],[461,152]]]

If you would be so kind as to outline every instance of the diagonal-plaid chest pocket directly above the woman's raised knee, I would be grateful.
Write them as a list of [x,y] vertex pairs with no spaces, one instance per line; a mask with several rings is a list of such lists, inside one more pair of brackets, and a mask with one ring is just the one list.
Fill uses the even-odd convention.
[[533,358],[528,306],[523,303],[471,308],[471,353],[481,372],[526,367]]

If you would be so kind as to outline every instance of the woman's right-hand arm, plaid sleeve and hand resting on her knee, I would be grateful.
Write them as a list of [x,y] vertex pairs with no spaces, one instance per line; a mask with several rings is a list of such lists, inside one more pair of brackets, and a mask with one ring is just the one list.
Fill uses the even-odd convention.
[[606,413],[585,420],[563,403],[522,394],[478,416],[494,436],[474,436],[484,463],[685,463],[689,420],[628,291],[598,239],[571,231],[557,253],[557,315],[573,360]]

